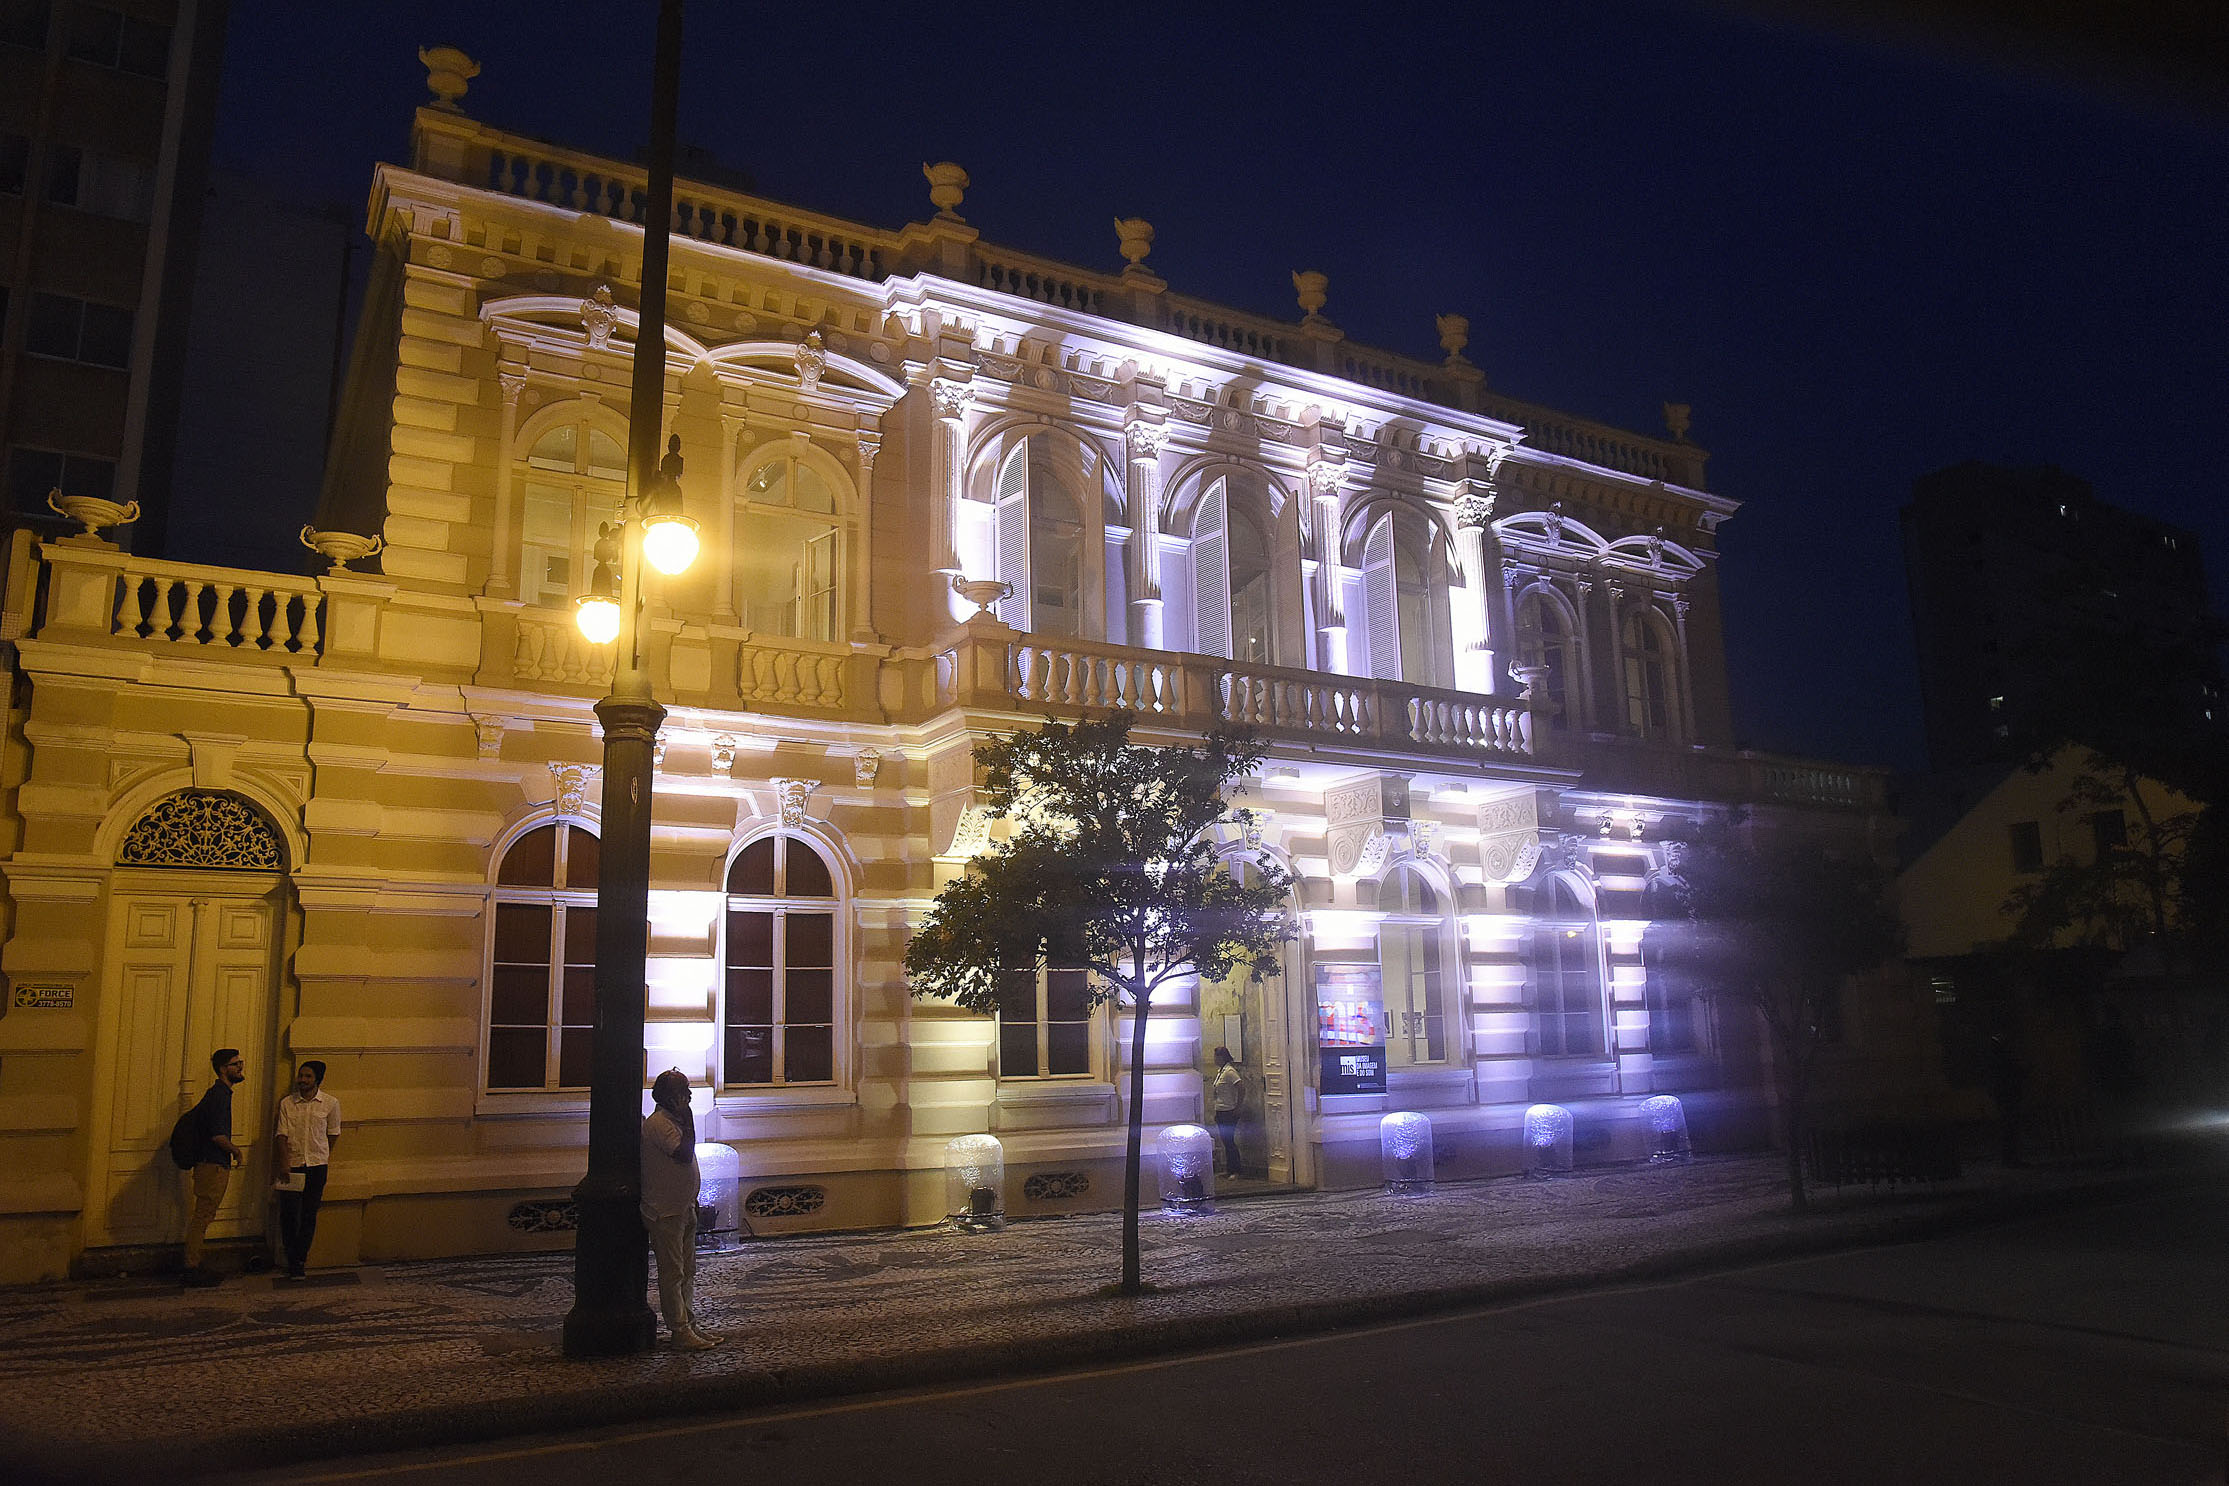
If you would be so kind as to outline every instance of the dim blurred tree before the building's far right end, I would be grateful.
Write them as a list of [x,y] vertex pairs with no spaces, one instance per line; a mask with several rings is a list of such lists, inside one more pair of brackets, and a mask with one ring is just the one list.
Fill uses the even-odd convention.
[[1752,844],[1734,822],[1676,840],[1658,882],[1672,916],[1661,936],[1667,969],[1696,996],[1759,1020],[1788,1125],[1788,1199],[1810,1205],[1803,1138],[1821,1049],[1841,1025],[1841,987],[1904,942],[1888,876],[1870,853],[1812,840]]

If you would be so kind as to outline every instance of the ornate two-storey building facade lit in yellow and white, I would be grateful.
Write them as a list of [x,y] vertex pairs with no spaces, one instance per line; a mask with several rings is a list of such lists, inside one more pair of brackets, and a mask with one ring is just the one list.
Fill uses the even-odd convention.
[[[571,599],[624,483],[642,178],[470,120],[428,60],[319,521],[383,573],[13,550],[7,971],[49,987],[0,1018],[16,1277],[169,1236],[160,1141],[218,1043],[243,1109],[330,1067],[319,1261],[566,1241],[611,664]],[[1106,706],[1255,726],[1259,831],[1221,849],[1300,878],[1282,976],[1157,1003],[1148,1123],[1204,1116],[1221,1043],[1279,1183],[1375,1183],[1400,1109],[1438,1181],[1520,1170],[1536,1103],[1583,1163],[1645,1156],[1667,1089],[1703,1145],[1759,1130],[1754,1038],[1645,954],[1663,822],[1863,838],[1879,780],[1730,746],[1734,501],[1685,410],[1505,399],[1456,316],[1438,363],[1360,348],[1317,274],[1297,323],[1184,299],[1135,221],[1119,272],[999,250],[927,176],[896,232],[678,194],[707,559],[651,599],[646,1074],[709,1089],[758,1232],[934,1221],[979,1132],[1014,1216],[1119,1201],[1121,1014],[1059,969],[961,1014],[901,969],[994,829],[974,742]]]

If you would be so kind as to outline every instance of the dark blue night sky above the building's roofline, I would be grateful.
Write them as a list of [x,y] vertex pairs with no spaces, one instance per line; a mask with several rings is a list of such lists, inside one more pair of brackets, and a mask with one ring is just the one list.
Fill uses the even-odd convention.
[[[361,203],[459,45],[475,118],[631,156],[649,0],[234,7],[218,165]],[[2229,111],[1705,4],[711,4],[682,138],[778,201],[901,225],[921,160],[985,238],[1438,356],[1636,430],[1694,403],[1736,726],[1917,764],[1897,553],[1915,475],[2060,463],[2196,528],[2225,590]]]

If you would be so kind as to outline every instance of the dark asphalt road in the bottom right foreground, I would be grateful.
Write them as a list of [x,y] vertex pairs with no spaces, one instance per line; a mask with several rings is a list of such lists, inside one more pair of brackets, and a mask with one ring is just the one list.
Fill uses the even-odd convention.
[[2220,1482],[2229,1194],[1288,1343],[256,1482]]

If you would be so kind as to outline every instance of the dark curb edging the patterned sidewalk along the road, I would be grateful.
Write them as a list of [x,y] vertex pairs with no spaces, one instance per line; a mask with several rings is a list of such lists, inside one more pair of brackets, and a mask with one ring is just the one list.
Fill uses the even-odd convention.
[[[2167,1194],[2213,1179],[2213,1170],[2178,1167],[2118,1176],[2055,1192],[2017,1192],[1984,1196],[1950,1212],[1928,1214],[1859,1214],[1832,1230],[1774,1232],[1743,1239],[1698,1243],[1687,1250],[1654,1254],[1625,1265],[1569,1270],[1482,1281],[1476,1285],[1442,1285],[1404,1294],[1371,1294],[1355,1299],[1264,1306],[1244,1312],[1210,1312],[1170,1317],[1128,1326],[1099,1328],[1070,1337],[1036,1337],[1014,1343],[967,1343],[923,1348],[903,1357],[869,1357],[827,1361],[794,1370],[729,1372],[716,1379],[655,1379],[633,1386],[597,1386],[531,1399],[504,1401],[497,1410],[475,1404],[419,1408],[410,1412],[332,1419],[312,1435],[301,1428],[254,1428],[227,1435],[187,1435],[181,1439],[134,1444],[120,1450],[78,1450],[60,1459],[47,1450],[9,1450],[9,1479],[20,1486],[47,1482],[109,1482],[176,1475],[183,1461],[196,1473],[178,1479],[205,1479],[270,1466],[305,1466],[317,1459],[352,1455],[428,1450],[441,1446],[481,1444],[519,1435],[575,1433],[617,1424],[687,1419],[747,1408],[796,1406],[823,1399],[921,1388],[927,1384],[972,1384],[994,1377],[1030,1377],[1077,1366],[1137,1361],[1186,1350],[1208,1350],[1259,1341],[1324,1335],[1353,1326],[1406,1321],[1460,1310],[1480,1310],[1529,1299],[1554,1299],[1698,1277],[1714,1270],[1745,1268],[1774,1259],[1832,1254],[1888,1243],[1917,1243],[1953,1232],[1990,1228],[2046,1212],[2100,1208],[2133,1196]],[[4,1457],[0,1457],[4,1459]]]

